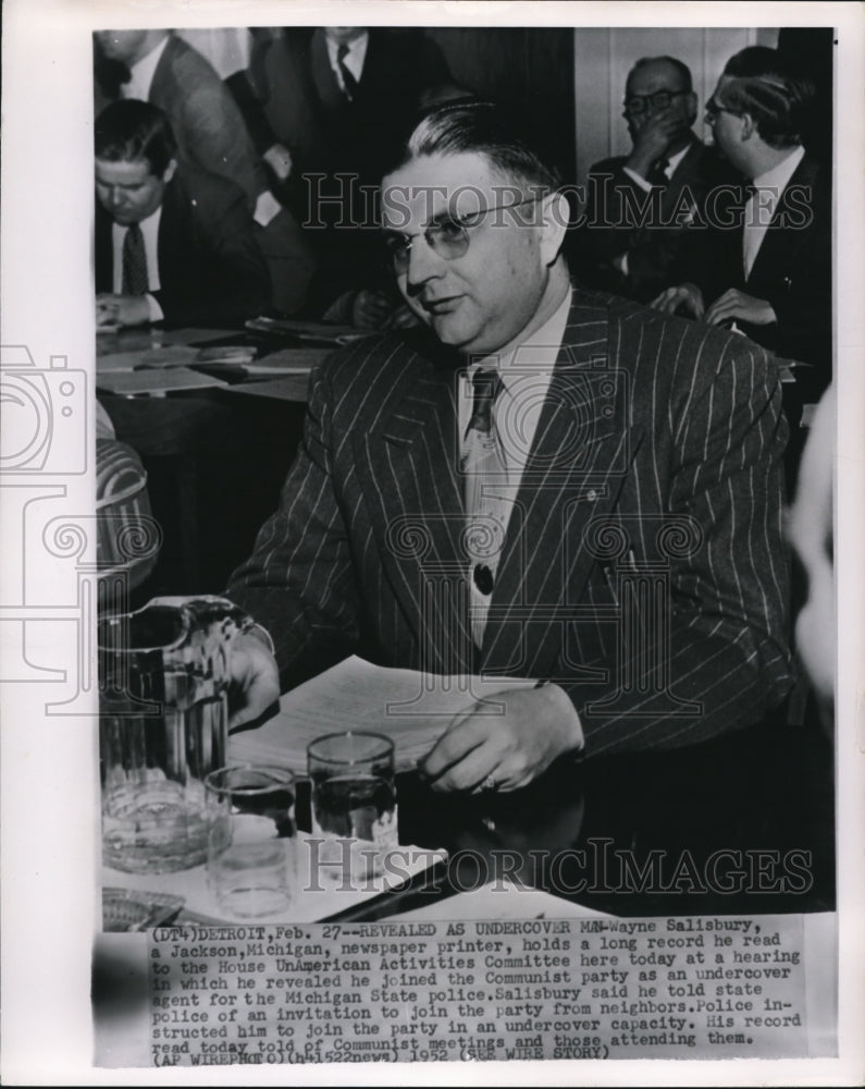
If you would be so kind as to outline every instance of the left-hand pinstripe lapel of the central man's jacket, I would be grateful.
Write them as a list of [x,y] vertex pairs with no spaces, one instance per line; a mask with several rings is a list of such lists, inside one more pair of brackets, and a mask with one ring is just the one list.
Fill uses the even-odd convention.
[[355,436],[386,577],[423,648],[424,666],[446,673],[472,669],[456,382],[456,371],[407,366],[390,391],[382,425]]

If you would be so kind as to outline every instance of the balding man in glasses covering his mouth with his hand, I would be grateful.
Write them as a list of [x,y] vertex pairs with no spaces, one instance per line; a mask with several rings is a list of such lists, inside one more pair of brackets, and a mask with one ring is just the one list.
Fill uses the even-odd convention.
[[684,234],[713,186],[732,180],[693,132],[691,72],[672,57],[639,60],[625,88],[628,156],[595,163],[571,260],[589,286],[647,303],[682,274]]

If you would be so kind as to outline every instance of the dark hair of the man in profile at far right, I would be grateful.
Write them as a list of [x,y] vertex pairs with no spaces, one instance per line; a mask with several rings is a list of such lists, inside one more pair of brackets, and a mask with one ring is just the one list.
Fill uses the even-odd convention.
[[765,144],[784,148],[802,143],[814,84],[777,49],[749,46],[727,61],[724,75],[734,81],[725,89],[725,103],[750,114]]

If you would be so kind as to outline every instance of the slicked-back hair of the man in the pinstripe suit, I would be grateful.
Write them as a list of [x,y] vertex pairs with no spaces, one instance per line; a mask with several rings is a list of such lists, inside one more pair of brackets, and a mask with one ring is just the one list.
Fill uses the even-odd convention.
[[391,173],[412,159],[430,155],[483,155],[509,181],[557,189],[561,180],[544,162],[511,117],[493,102],[455,101],[436,106],[421,117],[394,162]]

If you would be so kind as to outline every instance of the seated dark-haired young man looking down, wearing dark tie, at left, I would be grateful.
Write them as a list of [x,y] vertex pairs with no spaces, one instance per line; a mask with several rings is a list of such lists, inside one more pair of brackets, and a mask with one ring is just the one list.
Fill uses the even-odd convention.
[[97,321],[224,325],[268,304],[242,191],[178,167],[165,114],[137,99],[96,120]]

